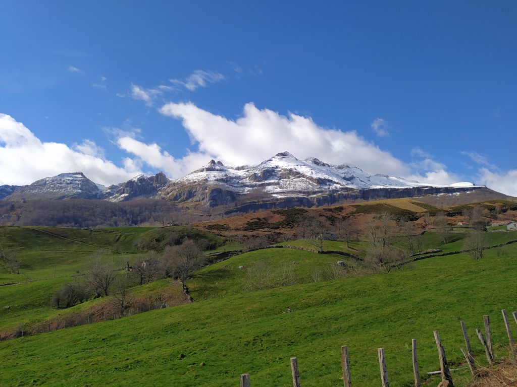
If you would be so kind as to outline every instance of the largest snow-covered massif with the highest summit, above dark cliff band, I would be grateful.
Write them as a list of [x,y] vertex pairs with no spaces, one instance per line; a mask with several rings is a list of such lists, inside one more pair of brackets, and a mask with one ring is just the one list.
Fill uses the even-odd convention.
[[254,196],[287,198],[416,187],[454,190],[473,188],[474,184],[464,182],[449,186],[430,186],[387,175],[371,175],[353,165],[330,165],[314,157],[302,161],[291,153],[283,152],[256,166],[232,167],[210,160],[203,168],[169,183],[160,196],[179,202],[203,201],[214,206],[233,202],[236,197],[251,193]]

